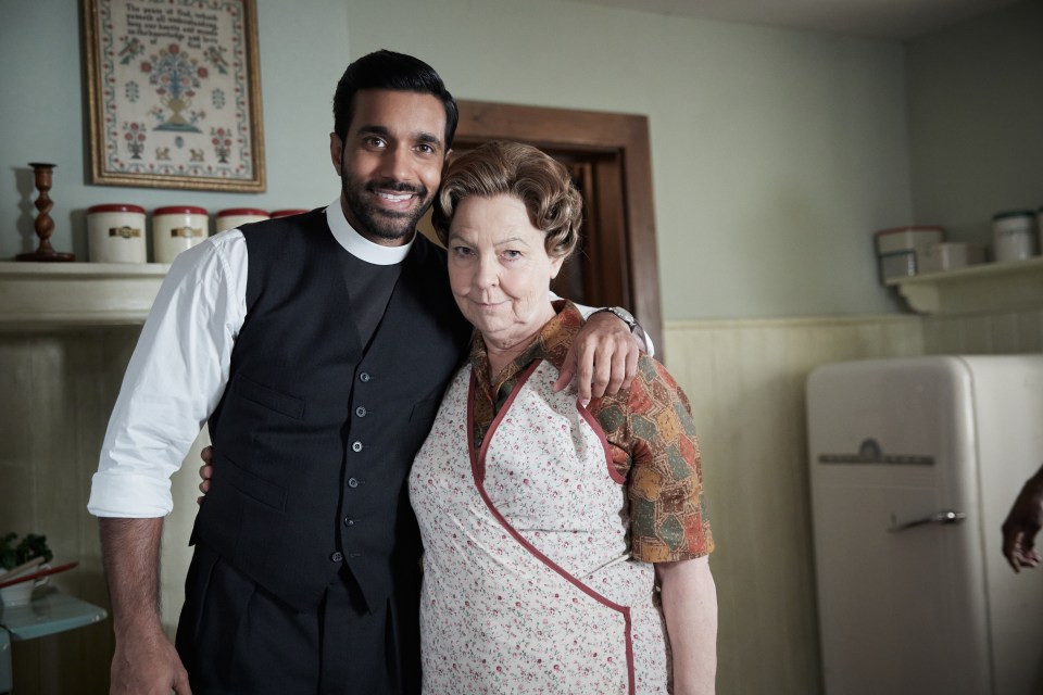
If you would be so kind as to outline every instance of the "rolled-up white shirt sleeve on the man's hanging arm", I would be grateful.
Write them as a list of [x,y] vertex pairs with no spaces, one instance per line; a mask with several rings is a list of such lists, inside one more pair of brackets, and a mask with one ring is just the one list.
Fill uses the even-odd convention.
[[174,260],[109,419],[91,480],[91,514],[152,518],[173,509],[171,476],[228,382],[246,287],[247,244],[238,230]]

